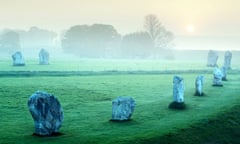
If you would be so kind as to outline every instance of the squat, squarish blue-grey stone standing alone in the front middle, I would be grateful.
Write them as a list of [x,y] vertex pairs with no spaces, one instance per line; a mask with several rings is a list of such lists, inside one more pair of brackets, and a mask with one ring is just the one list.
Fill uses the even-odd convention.
[[112,101],[112,121],[129,120],[133,114],[135,101],[131,97],[117,97]]

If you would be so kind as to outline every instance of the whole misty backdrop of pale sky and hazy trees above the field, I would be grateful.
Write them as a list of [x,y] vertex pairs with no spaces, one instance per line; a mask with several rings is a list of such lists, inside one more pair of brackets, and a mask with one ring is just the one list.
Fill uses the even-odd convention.
[[[36,58],[41,48],[66,59],[200,60],[209,50],[240,50],[238,0],[0,3],[0,55],[6,59],[15,51]],[[151,15],[155,27],[147,25]]]

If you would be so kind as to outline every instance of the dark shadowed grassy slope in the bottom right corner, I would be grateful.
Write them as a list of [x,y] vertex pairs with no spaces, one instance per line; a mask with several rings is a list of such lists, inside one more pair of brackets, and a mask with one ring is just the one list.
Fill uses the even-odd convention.
[[238,144],[240,142],[240,105],[187,128],[134,142],[139,144]]

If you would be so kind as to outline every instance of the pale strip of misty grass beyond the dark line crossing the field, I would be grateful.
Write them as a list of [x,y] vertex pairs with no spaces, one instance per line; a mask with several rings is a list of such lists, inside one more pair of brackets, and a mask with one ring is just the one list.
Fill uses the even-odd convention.
[[[220,65],[221,66],[221,65]],[[26,61],[25,67],[13,67],[10,60],[0,61],[0,71],[166,71],[166,70],[211,70],[202,61],[166,60],[104,60],[79,59],[72,61],[53,60],[50,65],[38,65],[36,60]],[[233,69],[240,69],[238,63]]]

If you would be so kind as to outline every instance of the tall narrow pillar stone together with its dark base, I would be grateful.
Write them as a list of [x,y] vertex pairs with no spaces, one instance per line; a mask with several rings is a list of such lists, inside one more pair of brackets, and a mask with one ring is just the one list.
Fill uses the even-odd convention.
[[169,108],[184,109],[184,81],[180,76],[174,76],[173,78],[173,102],[169,105]]

